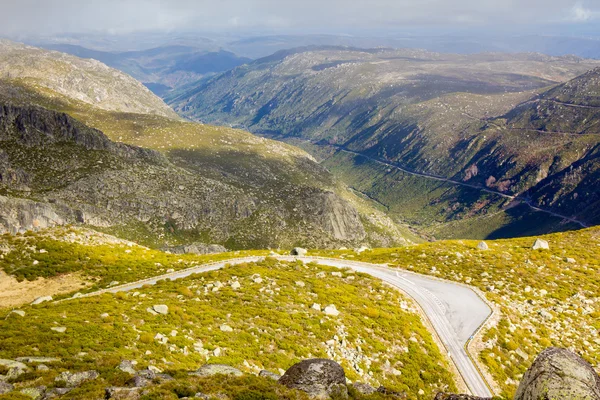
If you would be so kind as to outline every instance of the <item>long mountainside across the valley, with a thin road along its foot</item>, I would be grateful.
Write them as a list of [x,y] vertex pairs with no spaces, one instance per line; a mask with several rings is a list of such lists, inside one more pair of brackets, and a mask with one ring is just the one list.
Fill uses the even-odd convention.
[[506,237],[597,220],[581,199],[561,217],[565,209],[534,206],[528,192],[590,155],[597,137],[520,131],[504,117],[595,66],[541,54],[310,47],[167,102],[188,118],[302,146],[388,215],[436,237]]

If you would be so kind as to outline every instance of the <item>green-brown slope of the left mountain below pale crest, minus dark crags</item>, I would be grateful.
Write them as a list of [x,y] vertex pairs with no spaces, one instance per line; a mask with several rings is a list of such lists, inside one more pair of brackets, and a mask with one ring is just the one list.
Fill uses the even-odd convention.
[[[45,52],[40,50],[38,54]],[[160,247],[192,242],[264,248],[404,241],[402,228],[338,184],[307,153],[292,146],[239,130],[155,114],[104,110],[78,100],[76,94],[67,97],[26,79],[0,80],[0,100],[17,110],[15,115],[7,113],[8,130],[29,132],[35,128],[34,131],[42,132],[38,134],[47,136],[56,129],[65,129],[60,124],[55,128],[55,123],[44,122],[45,118],[53,121],[58,117],[41,112],[28,116],[27,110],[35,104],[67,113],[112,140],[153,149],[148,152],[160,156],[168,166],[140,166],[128,173],[86,176],[85,171],[91,166],[99,166],[85,164],[81,174],[67,176],[67,160],[76,156],[77,149],[53,149],[57,153],[52,161],[57,163],[57,170],[63,171],[62,175],[49,179],[45,187],[29,189],[38,191],[34,197],[39,191],[52,193],[69,210],[62,214],[54,211],[60,218],[53,214],[43,217],[43,225],[78,222],[101,226]],[[25,110],[25,115],[18,110]],[[69,120],[66,124],[74,122]],[[9,146],[10,141],[5,145]],[[31,155],[39,154],[38,158],[17,162],[9,157],[7,171],[26,171],[25,175],[31,178],[30,169],[34,168],[34,180],[43,182],[52,171],[46,171],[46,164],[42,163],[42,154],[48,149],[44,143],[36,146]],[[84,152],[82,156],[93,159],[94,154]],[[63,187],[67,182],[69,185]],[[18,181],[6,183],[8,191],[20,190],[15,186]],[[9,214],[12,205],[5,206]],[[74,218],[72,210],[85,214],[85,218]],[[11,231],[32,229],[35,219],[39,218],[29,215],[22,223],[11,221],[7,227]]]

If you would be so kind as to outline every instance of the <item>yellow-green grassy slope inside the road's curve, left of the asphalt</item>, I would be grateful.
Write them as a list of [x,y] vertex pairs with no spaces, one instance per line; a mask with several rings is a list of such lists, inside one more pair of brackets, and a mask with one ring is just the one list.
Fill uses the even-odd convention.
[[[38,240],[33,243],[48,247],[47,242]],[[72,254],[74,260],[81,259],[86,247],[79,245],[79,251],[73,252],[67,244],[62,250],[56,246],[48,247],[47,258],[61,261],[61,257]],[[140,257],[141,264],[147,264],[141,276],[153,268],[150,261],[160,260],[163,268],[181,266],[174,257],[133,250],[129,254],[111,252],[113,259],[106,268],[109,275],[117,269],[127,271],[132,259]],[[101,247],[87,251],[103,253]],[[109,255],[103,257],[106,261]],[[190,258],[184,259],[187,262]],[[92,260],[78,267],[94,275],[99,272],[96,264]],[[101,373],[99,382],[84,385],[71,398],[75,394],[94,397],[101,395],[106,386],[123,385],[125,376],[115,371],[121,359],[137,360],[140,368],[155,365],[181,376],[177,371],[193,370],[206,362],[258,372],[262,368],[285,369],[304,358],[328,357],[340,361],[351,380],[407,391],[410,398],[416,398],[420,389],[426,397],[433,397],[438,390],[455,389],[430,334],[413,313],[414,306],[399,307],[406,298],[366,275],[346,271],[343,277],[337,277],[331,274],[333,271],[267,259],[162,282],[137,293],[23,307],[25,318],[15,314],[5,317],[6,312],[2,313],[0,358],[38,355],[62,359],[52,364],[50,372],[28,375],[22,385],[52,386],[53,378],[64,369],[96,369]],[[133,272],[113,276],[126,279],[122,274],[131,277]],[[262,282],[255,281],[259,275]],[[240,289],[232,289],[234,281],[241,284]],[[223,286],[215,291],[217,282]],[[335,304],[340,316],[327,317],[310,308],[313,303]],[[168,305],[169,314],[152,316],[146,309],[154,304]],[[102,318],[103,313],[109,316]],[[234,331],[221,331],[222,324]],[[59,334],[50,330],[52,326],[65,326],[67,331]],[[175,336],[173,330],[177,331]],[[157,333],[167,336],[168,343],[155,340]],[[324,342],[334,338],[335,345],[328,355]],[[214,355],[217,348],[221,350],[219,356]],[[355,364],[362,372],[342,357],[345,348],[356,354]],[[371,359],[370,364],[365,356]],[[402,373],[394,374],[394,368]]]

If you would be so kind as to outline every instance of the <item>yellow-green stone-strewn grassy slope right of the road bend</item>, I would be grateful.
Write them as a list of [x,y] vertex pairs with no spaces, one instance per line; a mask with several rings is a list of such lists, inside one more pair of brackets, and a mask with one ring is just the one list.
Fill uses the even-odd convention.
[[550,250],[531,250],[534,239],[519,238],[488,242],[488,251],[464,240],[317,254],[388,263],[483,290],[502,315],[483,331],[479,357],[502,395],[512,398],[535,355],[548,346],[574,349],[600,370],[600,229],[544,238]]

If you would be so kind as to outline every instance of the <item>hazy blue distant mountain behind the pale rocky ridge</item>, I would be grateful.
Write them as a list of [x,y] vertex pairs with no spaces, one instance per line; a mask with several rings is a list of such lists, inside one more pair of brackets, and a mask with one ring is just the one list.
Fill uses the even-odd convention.
[[157,95],[251,61],[221,49],[210,51],[181,45],[126,52],[92,50],[73,44],[46,44],[43,47],[98,60],[143,82]]

